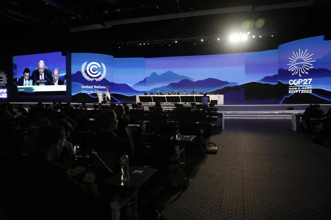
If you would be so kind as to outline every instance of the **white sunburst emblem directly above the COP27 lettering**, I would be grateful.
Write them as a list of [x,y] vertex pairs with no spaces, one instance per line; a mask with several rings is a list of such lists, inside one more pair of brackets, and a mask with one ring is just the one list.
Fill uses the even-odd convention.
[[309,55],[307,50],[308,49],[303,52],[303,50],[299,49],[299,53],[292,52],[294,56],[289,57],[290,63],[288,66],[290,66],[289,71],[293,72],[292,75],[299,73],[299,76],[301,77],[301,74],[308,74],[307,71],[314,68],[312,63],[315,62],[315,60],[312,60],[313,58],[311,58],[314,54],[312,53]]

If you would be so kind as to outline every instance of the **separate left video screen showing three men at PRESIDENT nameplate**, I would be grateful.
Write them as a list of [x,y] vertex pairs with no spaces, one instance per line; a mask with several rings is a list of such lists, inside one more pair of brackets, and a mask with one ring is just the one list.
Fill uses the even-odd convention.
[[13,71],[18,92],[66,91],[66,57],[61,52],[14,56]]

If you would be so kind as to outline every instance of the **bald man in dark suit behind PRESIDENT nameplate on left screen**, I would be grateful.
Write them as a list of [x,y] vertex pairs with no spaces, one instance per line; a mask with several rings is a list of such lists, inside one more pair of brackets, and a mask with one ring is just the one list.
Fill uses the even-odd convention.
[[38,68],[32,72],[34,85],[53,85],[52,72],[45,66],[43,60],[39,61]]

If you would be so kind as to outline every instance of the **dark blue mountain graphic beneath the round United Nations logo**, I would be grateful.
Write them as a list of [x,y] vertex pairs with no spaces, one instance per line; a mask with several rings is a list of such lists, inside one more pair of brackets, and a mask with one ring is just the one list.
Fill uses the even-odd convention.
[[[102,79],[99,82],[96,81],[88,81],[86,80],[81,71],[76,72],[75,74],[71,75],[72,81],[72,94],[77,94],[82,91],[81,85],[101,85],[101,86],[109,86],[110,93],[120,93],[126,95],[135,95],[141,94],[141,92],[132,89],[125,83],[114,83],[109,82],[106,78]],[[102,89],[99,89],[102,90]]]

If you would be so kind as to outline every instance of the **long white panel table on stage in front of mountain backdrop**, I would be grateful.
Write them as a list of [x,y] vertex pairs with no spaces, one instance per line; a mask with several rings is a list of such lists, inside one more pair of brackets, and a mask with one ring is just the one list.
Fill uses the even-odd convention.
[[[203,95],[138,95],[137,103],[155,103],[159,100],[161,103],[201,103]],[[207,95],[209,101],[216,100],[215,105],[224,105],[223,95]]]

